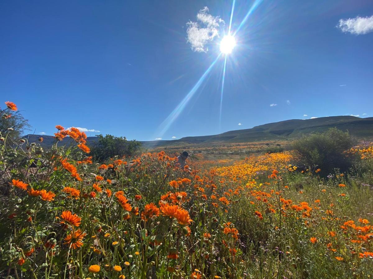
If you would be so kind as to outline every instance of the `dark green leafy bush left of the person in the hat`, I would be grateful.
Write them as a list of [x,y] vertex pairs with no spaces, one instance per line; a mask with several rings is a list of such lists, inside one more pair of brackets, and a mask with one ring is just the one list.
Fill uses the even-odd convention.
[[91,147],[91,155],[94,160],[99,162],[115,156],[132,156],[141,147],[141,142],[135,140],[127,141],[125,137],[115,137],[113,135],[104,137],[102,134],[96,136],[98,137],[98,142]]

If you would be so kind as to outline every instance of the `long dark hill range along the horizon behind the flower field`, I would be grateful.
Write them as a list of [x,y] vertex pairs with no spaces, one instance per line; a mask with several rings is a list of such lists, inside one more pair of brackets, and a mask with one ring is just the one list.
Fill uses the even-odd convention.
[[[268,123],[255,126],[250,129],[234,130],[217,135],[184,137],[179,140],[141,141],[142,146],[149,149],[159,149],[162,147],[180,146],[211,146],[222,143],[245,143],[263,140],[289,140],[300,137],[304,134],[323,132],[329,128],[336,127],[342,131],[349,131],[357,138],[373,137],[373,117],[359,118],[355,116],[328,116],[314,119],[291,119],[286,121]],[[26,135],[29,142],[38,142],[40,135]],[[51,147],[55,143],[53,136],[43,135],[44,141],[41,145],[45,148]],[[94,145],[97,137],[88,137],[87,144]],[[61,143],[60,143],[61,144]],[[62,141],[63,145],[74,144],[70,138]]]

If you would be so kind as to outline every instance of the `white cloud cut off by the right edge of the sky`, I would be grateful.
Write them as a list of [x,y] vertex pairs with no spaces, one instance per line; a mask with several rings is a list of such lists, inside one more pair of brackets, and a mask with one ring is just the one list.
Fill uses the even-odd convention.
[[373,16],[340,19],[337,27],[342,32],[350,32],[355,35],[366,34],[373,31]]

